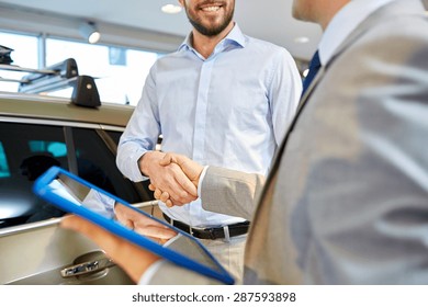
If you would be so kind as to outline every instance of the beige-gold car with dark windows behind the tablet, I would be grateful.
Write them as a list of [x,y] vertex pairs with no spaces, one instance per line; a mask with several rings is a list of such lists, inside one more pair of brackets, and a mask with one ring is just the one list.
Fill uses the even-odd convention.
[[59,166],[155,214],[145,184],[115,166],[128,105],[81,106],[68,99],[0,92],[0,284],[132,284],[102,250],[58,227],[65,214],[32,192]]

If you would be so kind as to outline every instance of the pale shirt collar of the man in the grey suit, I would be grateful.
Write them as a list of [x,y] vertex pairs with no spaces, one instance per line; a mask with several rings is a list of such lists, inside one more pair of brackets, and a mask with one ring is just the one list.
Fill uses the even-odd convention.
[[352,0],[330,21],[318,45],[319,59],[325,66],[335,55],[336,49],[351,32],[371,13],[390,2],[397,0]]

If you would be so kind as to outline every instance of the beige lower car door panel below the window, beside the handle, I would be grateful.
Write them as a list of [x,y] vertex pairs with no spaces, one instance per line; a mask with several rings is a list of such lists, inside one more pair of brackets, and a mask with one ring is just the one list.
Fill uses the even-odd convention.
[[[99,248],[87,238],[74,231],[58,227],[59,218],[49,223],[34,223],[29,229],[21,226],[10,227],[0,232],[0,284],[85,284],[76,278],[64,278],[60,270],[74,264],[75,259],[89,252],[99,251]],[[4,234],[5,232],[5,234]],[[65,265],[66,264],[66,265]],[[131,284],[126,274],[116,270],[117,282]],[[46,272],[48,274],[46,274]],[[98,284],[110,277],[112,272],[99,278],[87,278]]]

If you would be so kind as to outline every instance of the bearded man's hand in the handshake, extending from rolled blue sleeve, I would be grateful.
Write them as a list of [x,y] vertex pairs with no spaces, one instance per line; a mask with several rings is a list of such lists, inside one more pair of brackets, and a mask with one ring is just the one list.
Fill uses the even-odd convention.
[[195,185],[188,179],[177,163],[160,163],[166,155],[160,151],[148,151],[138,160],[143,174],[150,179],[154,186],[168,191],[177,204],[187,204],[198,198]]

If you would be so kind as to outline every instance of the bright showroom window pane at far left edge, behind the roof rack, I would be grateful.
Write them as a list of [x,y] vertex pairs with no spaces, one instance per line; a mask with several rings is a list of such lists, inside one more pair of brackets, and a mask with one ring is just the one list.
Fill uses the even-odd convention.
[[[37,68],[37,37],[0,32],[0,42],[2,46],[13,49],[10,54],[12,65]],[[22,76],[22,72],[0,70],[0,91],[16,92],[19,82],[1,81],[1,78],[20,80]]]

